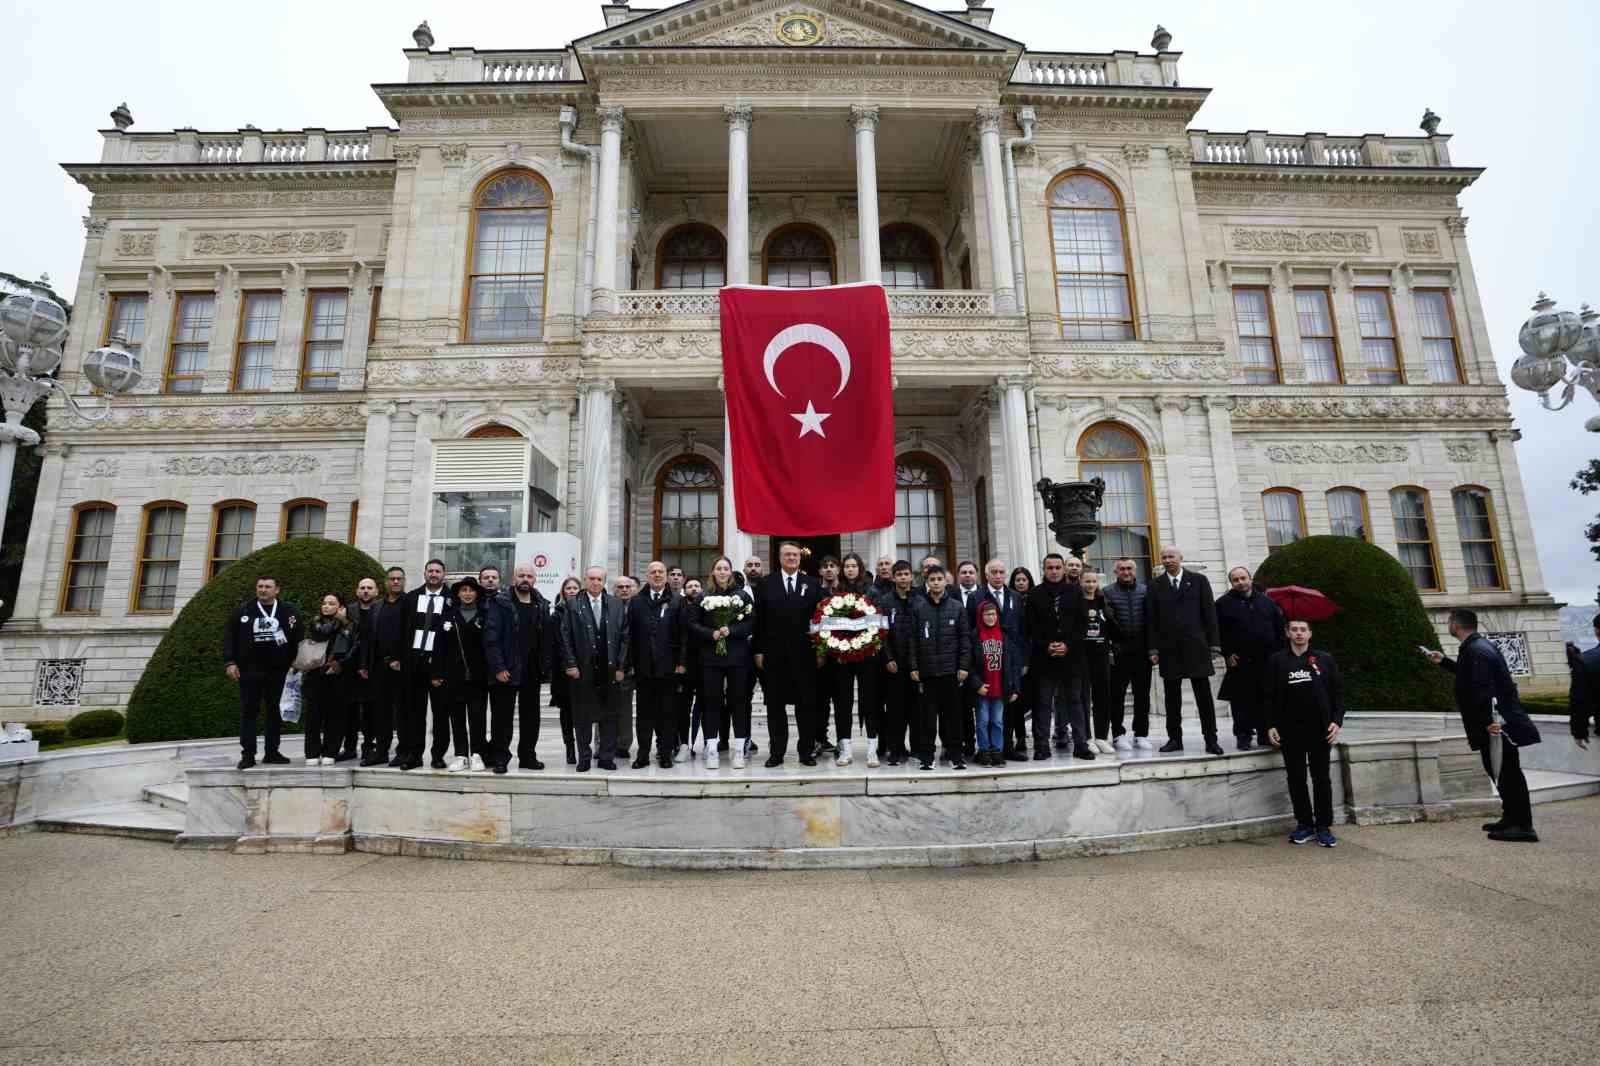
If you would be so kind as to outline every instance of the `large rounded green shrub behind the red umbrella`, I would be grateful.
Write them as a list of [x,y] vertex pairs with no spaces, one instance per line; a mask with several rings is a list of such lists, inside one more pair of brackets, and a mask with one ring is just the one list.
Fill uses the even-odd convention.
[[1258,589],[1298,584],[1342,610],[1312,623],[1312,643],[1339,663],[1350,711],[1440,712],[1454,707],[1450,674],[1418,655],[1438,648],[1411,575],[1355,536],[1307,536],[1267,555]]

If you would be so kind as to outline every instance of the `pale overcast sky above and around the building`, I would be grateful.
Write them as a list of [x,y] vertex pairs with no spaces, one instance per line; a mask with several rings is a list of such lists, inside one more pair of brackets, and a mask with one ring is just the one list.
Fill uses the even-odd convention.
[[[666,5],[642,5],[666,6]],[[936,6],[960,6],[947,0]],[[1462,197],[1469,246],[1501,373],[1534,293],[1600,306],[1594,269],[1600,174],[1600,18],[1581,0],[1509,5],[1344,0],[1338,5],[1067,3],[992,0],[994,29],[1038,50],[1149,51],[1165,22],[1186,85],[1213,88],[1208,130],[1416,134],[1424,107],[1454,134],[1458,165],[1488,173]],[[128,101],[136,130],[266,130],[389,125],[373,82],[405,78],[400,50],[427,18],[437,46],[560,46],[600,29],[595,0],[277,0],[270,5],[0,2],[11,104],[0,112],[5,205],[0,271],[74,295],[88,194],[58,166],[99,158],[96,130]],[[1589,192],[1586,192],[1586,189]],[[1581,269],[1581,264],[1589,269]],[[1509,381],[1509,378],[1507,378]],[[1523,483],[1557,597],[1584,603],[1600,565],[1582,539],[1600,498],[1566,482],[1600,434],[1584,395],[1560,415],[1512,389]],[[1448,504],[1438,509],[1448,520]]]

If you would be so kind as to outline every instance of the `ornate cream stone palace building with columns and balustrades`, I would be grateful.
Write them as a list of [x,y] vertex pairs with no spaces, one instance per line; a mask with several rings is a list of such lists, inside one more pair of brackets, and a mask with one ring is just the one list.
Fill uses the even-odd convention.
[[[434,48],[394,126],[142,131],[99,162],[0,707],[125,699],[174,610],[286,536],[413,573],[570,530],[611,571],[768,555],[726,477],[717,287],[890,290],[899,520],[816,547],[1035,568],[1034,482],[1094,552],[1221,575],[1302,535],[1397,554],[1560,671],[1434,115],[1213,133],[1181,53],[1034,51],[902,0],[603,6],[565,48]],[[1315,120],[1315,117],[1312,117]],[[82,386],[86,389],[86,386]],[[827,491],[819,475],[818,491]]]

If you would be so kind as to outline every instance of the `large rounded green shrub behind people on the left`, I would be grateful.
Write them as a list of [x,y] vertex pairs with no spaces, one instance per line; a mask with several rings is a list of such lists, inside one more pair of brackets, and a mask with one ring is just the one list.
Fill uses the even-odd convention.
[[[274,575],[278,597],[310,619],[322,597],[355,594],[362,578],[382,587],[384,568],[349,544],[299,538],[245,555],[208,581],[179,611],[128,698],[128,741],[173,741],[238,733],[238,685],[222,672],[222,627],[256,595],[256,576]],[[298,731],[283,723],[283,731]]]

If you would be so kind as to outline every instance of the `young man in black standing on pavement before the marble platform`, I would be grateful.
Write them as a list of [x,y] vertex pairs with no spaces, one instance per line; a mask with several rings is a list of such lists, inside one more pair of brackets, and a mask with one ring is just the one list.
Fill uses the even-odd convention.
[[[1331,848],[1339,840],[1331,831],[1333,783],[1328,778],[1328,754],[1344,728],[1344,682],[1333,656],[1310,647],[1310,623],[1291,621],[1288,631],[1288,650],[1274,651],[1264,671],[1267,739],[1282,747],[1283,770],[1290,776],[1296,823],[1290,844],[1317,840]],[[1307,768],[1312,795],[1306,794]]]

